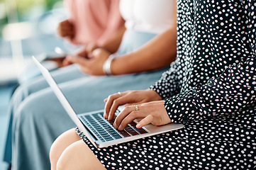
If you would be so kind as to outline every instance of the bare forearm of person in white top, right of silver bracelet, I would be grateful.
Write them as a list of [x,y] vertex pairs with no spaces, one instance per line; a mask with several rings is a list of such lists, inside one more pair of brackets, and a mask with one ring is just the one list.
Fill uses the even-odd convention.
[[[175,24],[174,24],[175,25]],[[113,60],[112,74],[133,74],[169,66],[176,59],[176,25],[169,28],[135,52]]]

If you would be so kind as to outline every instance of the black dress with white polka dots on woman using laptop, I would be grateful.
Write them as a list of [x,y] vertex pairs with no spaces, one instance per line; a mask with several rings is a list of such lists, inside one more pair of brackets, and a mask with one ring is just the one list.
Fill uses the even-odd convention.
[[150,88],[185,128],[96,149],[106,169],[256,169],[256,2],[177,1],[177,60]]

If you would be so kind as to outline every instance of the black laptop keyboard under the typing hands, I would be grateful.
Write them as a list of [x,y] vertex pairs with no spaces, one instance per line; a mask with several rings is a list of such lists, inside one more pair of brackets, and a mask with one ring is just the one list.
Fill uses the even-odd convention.
[[103,142],[147,133],[143,128],[136,128],[135,122],[129,123],[124,130],[116,130],[116,128],[113,127],[113,122],[116,117],[108,122],[108,120],[104,118],[103,112],[82,115],[80,118],[84,125],[87,125],[87,128],[91,129],[91,131],[94,132],[94,135],[99,137],[99,140]]

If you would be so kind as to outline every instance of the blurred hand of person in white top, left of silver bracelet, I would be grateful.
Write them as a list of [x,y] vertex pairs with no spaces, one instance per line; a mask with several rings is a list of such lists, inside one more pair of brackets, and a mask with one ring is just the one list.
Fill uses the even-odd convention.
[[[80,56],[81,55],[82,54],[80,53]],[[103,65],[109,55],[111,54],[108,51],[102,48],[97,48],[92,52],[92,57],[90,58],[79,57],[78,55],[76,55],[76,56],[67,56],[65,60],[67,60],[67,62],[69,63],[79,64],[81,71],[86,74],[100,76],[105,74],[103,72]]]

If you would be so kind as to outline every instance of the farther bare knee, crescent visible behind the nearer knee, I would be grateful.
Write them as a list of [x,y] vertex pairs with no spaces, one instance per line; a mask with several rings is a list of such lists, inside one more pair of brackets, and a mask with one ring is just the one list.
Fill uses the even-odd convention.
[[81,140],[74,129],[67,130],[67,132],[62,133],[60,137],[57,137],[55,142],[53,142],[50,148],[50,163],[52,169],[56,169],[56,164],[62,152],[72,143]]

